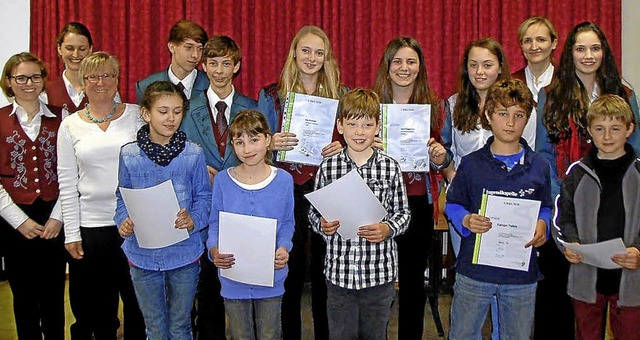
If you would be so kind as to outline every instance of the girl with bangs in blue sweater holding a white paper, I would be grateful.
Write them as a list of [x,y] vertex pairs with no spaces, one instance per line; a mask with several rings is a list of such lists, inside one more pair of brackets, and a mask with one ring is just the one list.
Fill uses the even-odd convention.
[[213,182],[207,249],[216,267],[231,268],[233,254],[218,252],[221,211],[273,218],[278,221],[273,287],[245,284],[220,277],[224,307],[233,339],[279,339],[280,308],[293,246],[293,179],[270,165],[271,132],[257,110],[238,113],[229,127],[233,151],[240,164],[216,175]]

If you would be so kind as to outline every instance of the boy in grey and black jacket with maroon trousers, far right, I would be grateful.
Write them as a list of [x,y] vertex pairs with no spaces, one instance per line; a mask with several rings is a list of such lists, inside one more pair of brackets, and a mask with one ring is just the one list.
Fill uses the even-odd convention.
[[584,264],[580,255],[564,248],[571,263],[567,292],[576,317],[576,339],[604,338],[607,305],[613,337],[637,339],[640,161],[627,143],[635,128],[633,113],[622,97],[606,94],[591,104],[586,118],[595,147],[569,167],[557,206],[559,235],[554,232],[554,236],[573,243],[620,237],[628,248],[626,254],[611,258],[621,269]]

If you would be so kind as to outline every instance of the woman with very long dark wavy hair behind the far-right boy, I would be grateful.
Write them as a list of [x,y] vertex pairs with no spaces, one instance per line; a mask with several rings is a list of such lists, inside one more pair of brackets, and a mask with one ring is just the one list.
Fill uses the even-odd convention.
[[[551,194],[560,193],[560,181],[569,165],[586,156],[591,149],[591,138],[586,130],[587,109],[591,102],[603,94],[616,94],[631,106],[634,120],[639,111],[635,93],[622,84],[613,52],[602,30],[591,22],[574,27],[567,36],[556,76],[538,97],[536,152],[551,165]],[[637,124],[636,124],[637,126]],[[636,153],[640,151],[637,128],[628,139]],[[555,245],[540,248],[540,268],[549,286],[539,291],[542,303],[536,310],[536,337],[545,335],[545,321],[549,311],[562,315],[553,319],[554,336],[572,338],[574,320],[571,301],[566,294],[569,265]],[[544,288],[544,287],[543,287]],[[562,325],[562,326],[560,326]]]

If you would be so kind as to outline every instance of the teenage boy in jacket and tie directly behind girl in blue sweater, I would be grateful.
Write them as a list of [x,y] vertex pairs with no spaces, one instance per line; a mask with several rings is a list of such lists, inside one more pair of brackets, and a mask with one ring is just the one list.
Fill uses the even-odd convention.
[[[257,105],[255,100],[233,87],[233,78],[240,71],[242,60],[240,47],[233,39],[224,35],[214,36],[206,42],[201,54],[208,86],[191,97],[189,114],[184,117],[180,129],[187,138],[202,147],[209,179],[213,181],[218,171],[238,164],[229,138],[233,118],[238,112],[255,109]],[[207,231],[201,237],[206,243]],[[215,332],[215,339],[221,339],[225,329],[224,300],[220,296],[218,271],[206,259],[203,256],[201,261],[197,294],[199,339],[210,339],[203,338],[203,333],[212,332]]]

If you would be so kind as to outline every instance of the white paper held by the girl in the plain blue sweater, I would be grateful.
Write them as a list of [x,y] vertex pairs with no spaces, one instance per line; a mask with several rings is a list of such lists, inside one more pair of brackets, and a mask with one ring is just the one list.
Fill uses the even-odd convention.
[[246,284],[273,287],[276,227],[273,218],[220,212],[218,251],[233,254],[235,264],[220,275]]

